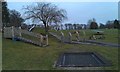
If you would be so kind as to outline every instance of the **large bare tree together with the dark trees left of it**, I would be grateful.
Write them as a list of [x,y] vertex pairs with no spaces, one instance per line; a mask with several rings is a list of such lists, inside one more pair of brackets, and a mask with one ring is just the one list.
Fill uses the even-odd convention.
[[[31,20],[40,24],[44,24],[45,32],[48,32],[51,24],[60,24],[67,19],[67,12],[64,9],[58,8],[51,3],[35,3],[28,5],[24,9],[24,19],[16,10],[9,10],[7,2],[2,3],[2,22],[3,27],[16,26],[19,27],[25,20]],[[23,24],[25,27],[25,24]]]

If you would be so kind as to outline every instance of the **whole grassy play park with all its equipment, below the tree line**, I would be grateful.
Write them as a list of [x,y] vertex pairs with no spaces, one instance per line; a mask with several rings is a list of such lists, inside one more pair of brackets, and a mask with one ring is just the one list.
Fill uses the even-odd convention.
[[[114,34],[113,34],[114,33]],[[4,27],[3,70],[118,70],[118,30]]]

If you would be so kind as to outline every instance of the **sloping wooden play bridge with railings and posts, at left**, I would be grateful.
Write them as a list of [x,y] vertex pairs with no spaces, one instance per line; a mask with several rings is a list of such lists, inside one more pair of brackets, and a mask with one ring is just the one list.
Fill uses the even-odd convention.
[[[32,36],[33,39],[37,38],[36,40],[32,40],[29,38],[25,38],[23,35],[28,35],[28,36]],[[21,29],[21,27],[4,27],[4,38],[10,38],[12,40],[20,40],[20,41],[24,41],[27,43],[31,43],[34,45],[38,45],[38,46],[47,46],[48,45],[48,35],[43,36],[41,34],[38,33],[34,33],[34,32],[29,32],[27,30],[23,30]]]

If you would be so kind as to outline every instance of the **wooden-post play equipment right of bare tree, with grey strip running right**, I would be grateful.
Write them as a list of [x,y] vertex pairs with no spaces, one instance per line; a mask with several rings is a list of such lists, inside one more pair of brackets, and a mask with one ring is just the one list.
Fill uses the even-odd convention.
[[[82,31],[81,31],[82,32]],[[101,46],[111,46],[111,47],[120,47],[118,44],[111,44],[111,43],[104,43],[104,42],[98,42],[95,40],[87,40],[86,39],[86,33],[83,31],[83,38],[80,38],[79,32],[76,33],[76,41],[74,41],[73,34],[71,32],[68,33],[67,36],[64,36],[63,32],[60,32],[61,35],[57,35],[56,33],[49,32],[52,36],[56,37],[58,40],[64,43],[70,43],[70,44],[93,44],[93,45],[101,45]],[[78,38],[79,37],[79,38]]]

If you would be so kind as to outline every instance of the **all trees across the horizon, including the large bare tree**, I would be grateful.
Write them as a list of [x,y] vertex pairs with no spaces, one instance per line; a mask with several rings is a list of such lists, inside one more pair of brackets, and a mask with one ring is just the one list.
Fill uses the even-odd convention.
[[[3,27],[9,26],[24,26],[27,25],[24,23],[25,20],[31,20],[38,24],[44,25],[45,32],[51,28],[50,26],[55,27],[57,30],[63,29],[66,30],[79,30],[79,29],[103,29],[103,28],[120,28],[120,21],[115,19],[114,21],[107,21],[106,24],[98,23],[93,18],[88,20],[88,24],[61,24],[64,20],[67,19],[67,12],[64,9],[58,8],[56,5],[51,3],[35,3],[33,5],[28,5],[24,9],[24,19],[22,18],[20,12],[16,10],[9,10],[7,8],[7,2],[2,2],[2,23]],[[55,25],[53,25],[55,24]]]

